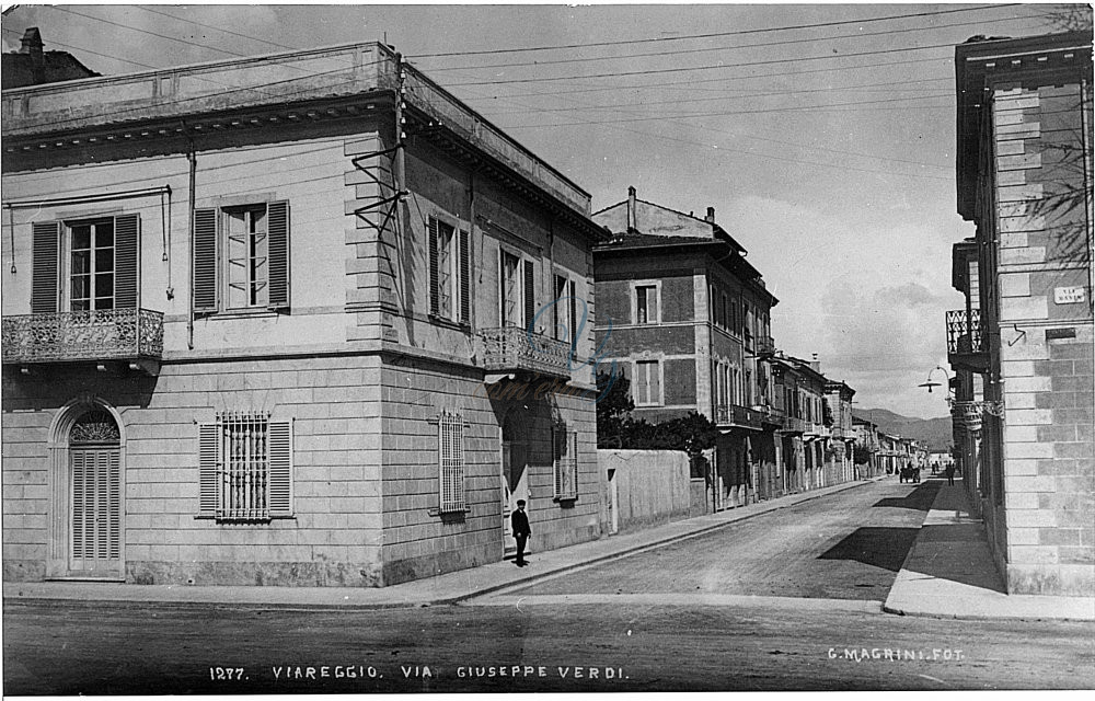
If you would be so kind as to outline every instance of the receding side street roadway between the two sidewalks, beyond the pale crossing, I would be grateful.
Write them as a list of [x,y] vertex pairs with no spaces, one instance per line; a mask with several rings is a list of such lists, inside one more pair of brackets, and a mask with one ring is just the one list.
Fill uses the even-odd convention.
[[876,482],[511,594],[667,593],[885,601],[938,487],[938,482]]

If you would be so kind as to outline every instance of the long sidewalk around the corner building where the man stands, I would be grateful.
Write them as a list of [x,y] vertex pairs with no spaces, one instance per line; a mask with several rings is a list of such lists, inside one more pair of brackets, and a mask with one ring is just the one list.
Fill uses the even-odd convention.
[[[878,481],[886,478],[875,478]],[[8,582],[3,585],[5,602],[18,600],[79,600],[117,606],[143,604],[168,606],[212,606],[260,609],[377,609],[454,604],[474,596],[532,582],[591,563],[611,560],[676,540],[722,528],[753,516],[787,508],[828,494],[869,484],[850,482],[770,502],[707,514],[654,528],[601,538],[568,548],[533,553],[528,567],[510,561],[382,588],[350,587],[257,587],[136,585],[88,582]]]

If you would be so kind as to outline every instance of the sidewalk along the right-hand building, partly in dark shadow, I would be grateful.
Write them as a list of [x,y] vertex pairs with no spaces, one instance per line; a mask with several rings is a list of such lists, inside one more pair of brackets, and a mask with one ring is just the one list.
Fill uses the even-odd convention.
[[960,619],[1095,620],[1095,599],[1006,594],[961,481],[943,484],[883,610]]

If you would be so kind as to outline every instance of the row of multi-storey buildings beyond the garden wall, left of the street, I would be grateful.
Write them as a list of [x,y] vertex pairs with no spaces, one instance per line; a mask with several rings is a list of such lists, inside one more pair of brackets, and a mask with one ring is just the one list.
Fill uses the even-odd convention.
[[593,248],[598,361],[629,379],[636,418],[717,427],[693,466],[711,509],[856,479],[855,390],[776,349],[779,300],[713,207],[700,218],[631,187],[592,218],[610,235]]

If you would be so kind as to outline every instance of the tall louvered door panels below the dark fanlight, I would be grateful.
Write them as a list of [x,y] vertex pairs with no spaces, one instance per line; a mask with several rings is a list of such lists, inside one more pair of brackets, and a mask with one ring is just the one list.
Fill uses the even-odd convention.
[[69,570],[88,576],[120,577],[120,450],[118,446],[73,446],[69,460]]

